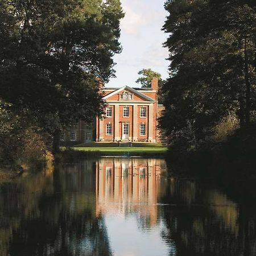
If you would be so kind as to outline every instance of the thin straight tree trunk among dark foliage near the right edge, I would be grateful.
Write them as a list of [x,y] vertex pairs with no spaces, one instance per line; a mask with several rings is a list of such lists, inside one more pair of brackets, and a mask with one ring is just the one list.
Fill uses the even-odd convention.
[[251,86],[249,79],[249,64],[248,64],[248,55],[247,55],[247,39],[245,39],[245,125],[248,126],[250,124],[250,107],[251,107]]

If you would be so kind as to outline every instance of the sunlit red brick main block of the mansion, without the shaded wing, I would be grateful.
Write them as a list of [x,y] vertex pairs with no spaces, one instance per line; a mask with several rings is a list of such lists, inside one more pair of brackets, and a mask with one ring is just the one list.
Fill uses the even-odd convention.
[[[151,88],[103,88],[104,100],[113,109],[111,118],[104,115],[96,120],[96,141],[158,142],[158,80]],[[141,109],[145,114],[141,117]],[[124,114],[126,109],[127,117]],[[112,126],[112,134],[106,134],[106,125]]]

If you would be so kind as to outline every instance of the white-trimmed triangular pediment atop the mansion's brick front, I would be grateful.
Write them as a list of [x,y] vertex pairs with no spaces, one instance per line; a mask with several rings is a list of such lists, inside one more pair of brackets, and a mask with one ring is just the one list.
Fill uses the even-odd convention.
[[[129,86],[123,86],[122,88],[118,88],[117,90],[114,90],[113,92],[107,94],[105,97],[103,97],[104,100],[114,100],[114,96],[118,96],[119,94],[123,94],[124,92],[128,92],[130,94],[133,94],[136,96],[137,100],[141,101],[149,101],[149,102],[154,102],[154,100],[145,94],[139,92],[138,90],[135,90]],[[134,101],[133,99],[126,99],[125,101]]]

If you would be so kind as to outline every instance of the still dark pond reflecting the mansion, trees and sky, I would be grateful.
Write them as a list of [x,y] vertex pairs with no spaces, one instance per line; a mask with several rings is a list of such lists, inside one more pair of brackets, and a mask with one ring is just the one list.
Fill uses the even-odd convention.
[[24,174],[0,187],[0,255],[256,255],[255,184],[143,158]]

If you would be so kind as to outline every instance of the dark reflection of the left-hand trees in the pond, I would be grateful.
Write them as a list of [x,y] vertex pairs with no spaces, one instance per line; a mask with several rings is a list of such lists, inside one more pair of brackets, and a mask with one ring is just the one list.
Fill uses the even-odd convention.
[[[56,169],[47,181],[43,177],[42,183],[30,178],[23,180],[25,183],[19,184],[22,195],[16,194],[16,203],[20,204],[21,196],[24,208],[17,212],[13,206],[9,211],[21,216],[16,226],[9,227],[10,255],[110,255],[104,218],[96,218],[95,214],[93,175],[81,163]],[[32,189],[28,185],[31,183]],[[35,196],[36,191],[39,192]],[[2,199],[7,200],[10,198]],[[24,210],[26,207],[28,210]]]

